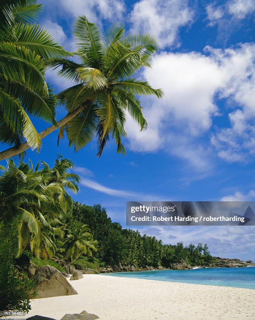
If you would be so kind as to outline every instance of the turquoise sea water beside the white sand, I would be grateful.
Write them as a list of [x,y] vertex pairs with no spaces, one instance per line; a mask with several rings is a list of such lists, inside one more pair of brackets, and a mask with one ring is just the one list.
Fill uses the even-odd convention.
[[255,267],[116,272],[106,276],[255,289]]

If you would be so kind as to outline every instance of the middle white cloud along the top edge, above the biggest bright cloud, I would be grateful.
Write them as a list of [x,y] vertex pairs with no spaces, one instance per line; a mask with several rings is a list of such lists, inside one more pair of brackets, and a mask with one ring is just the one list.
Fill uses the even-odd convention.
[[192,23],[194,11],[187,0],[141,0],[130,15],[132,32],[153,33],[160,47],[178,46],[179,29]]

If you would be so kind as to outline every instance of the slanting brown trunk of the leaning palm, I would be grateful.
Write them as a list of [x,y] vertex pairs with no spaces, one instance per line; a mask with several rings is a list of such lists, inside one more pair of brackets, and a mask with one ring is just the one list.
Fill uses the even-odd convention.
[[[72,120],[75,116],[77,116],[77,114],[79,114],[85,107],[87,106],[87,104],[82,104],[80,107],[78,107],[77,109],[75,109],[73,112],[69,113],[67,116],[65,116],[63,119],[61,119],[60,121],[58,121],[56,123],[56,125],[51,125],[50,127],[48,127],[47,129],[43,130],[42,132],[39,133],[39,137],[41,139],[43,139],[44,137],[46,137],[48,134],[52,133],[53,131],[57,130],[58,128],[60,128],[62,125],[66,124],[68,121]],[[21,144],[20,147],[11,147],[9,149],[6,149],[2,152],[0,152],[0,161],[7,159],[11,156],[16,156],[21,152],[26,151],[27,149],[29,149],[30,146],[28,144],[28,142],[24,142]]]

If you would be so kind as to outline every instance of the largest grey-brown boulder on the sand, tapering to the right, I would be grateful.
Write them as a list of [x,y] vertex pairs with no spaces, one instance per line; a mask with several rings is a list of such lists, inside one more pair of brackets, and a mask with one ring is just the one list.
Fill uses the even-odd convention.
[[78,294],[62,273],[49,265],[39,267],[33,279],[36,281],[36,299]]

